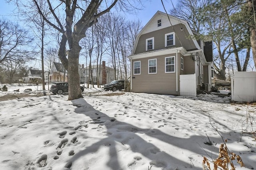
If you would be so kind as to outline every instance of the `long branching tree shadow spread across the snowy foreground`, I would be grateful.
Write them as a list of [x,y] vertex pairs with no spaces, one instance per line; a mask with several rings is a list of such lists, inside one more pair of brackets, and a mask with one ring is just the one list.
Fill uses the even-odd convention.
[[[70,158],[70,162],[75,162],[79,158],[86,156],[87,154],[98,152],[99,149],[105,147],[105,149],[108,149],[109,153],[109,160],[107,165],[110,169],[113,170],[122,170],[124,168],[129,169],[129,166],[136,164],[136,160],[141,159],[139,155],[143,155],[151,160],[148,162],[149,164],[160,167],[164,170],[175,170],[176,167],[178,167],[178,169],[202,169],[202,167],[194,166],[194,160],[192,156],[184,155],[183,158],[190,159],[190,163],[188,163],[188,159],[185,162],[182,160],[183,158],[178,158],[168,154],[168,152],[172,152],[171,150],[166,150],[165,152],[165,150],[161,150],[156,145],[150,143],[150,141],[145,141],[142,139],[140,136],[143,134],[148,135],[156,140],[160,140],[163,143],[167,143],[168,145],[175,146],[177,150],[173,150],[174,153],[182,152],[182,150],[188,150],[192,152],[192,154],[198,154],[200,157],[202,157],[201,155],[203,154],[208,154],[212,156],[212,158],[216,158],[217,156],[214,153],[218,153],[218,146],[205,145],[204,142],[207,139],[206,136],[193,135],[189,138],[174,137],[164,133],[163,131],[160,131],[159,129],[143,129],[129,123],[118,121],[114,117],[109,117],[105,113],[94,109],[94,107],[88,104],[84,98],[73,100],[71,102],[74,106],[77,107],[75,109],[76,113],[84,114],[90,117],[88,118],[90,121],[89,123],[98,124],[98,126],[102,126],[104,129],[106,129],[106,131],[104,131],[104,139],[101,139],[100,141],[97,141],[90,146],[85,146],[83,150],[76,152],[76,154]],[[119,113],[119,111],[116,112]],[[221,137],[211,137],[211,140],[221,141]],[[184,143],[184,145],[182,145],[182,143]],[[193,145],[188,145],[188,143]],[[120,152],[122,152],[122,150],[130,150],[130,152],[134,154],[134,160],[130,160],[131,163],[128,165],[124,165],[119,160],[121,158]],[[202,150],[202,152],[198,153],[198,150]],[[136,153],[138,153],[138,156],[135,156]],[[125,156],[123,159],[125,159]],[[148,165],[146,164],[144,166],[146,169]]]

